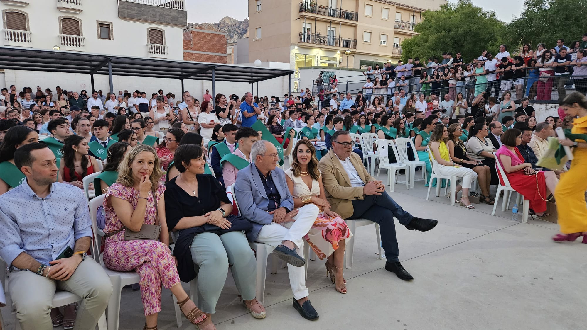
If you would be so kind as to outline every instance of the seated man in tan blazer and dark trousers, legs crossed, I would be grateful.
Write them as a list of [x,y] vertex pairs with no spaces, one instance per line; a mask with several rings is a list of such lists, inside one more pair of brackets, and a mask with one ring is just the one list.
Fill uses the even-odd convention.
[[332,148],[318,164],[330,209],[343,219],[363,218],[379,223],[387,258],[385,269],[402,280],[413,280],[399,262],[393,217],[407,229],[421,232],[433,229],[438,221],[412,216],[397,205],[385,191],[382,181],[370,176],[362,159],[353,154],[354,143],[349,132],[336,131],[331,141]]

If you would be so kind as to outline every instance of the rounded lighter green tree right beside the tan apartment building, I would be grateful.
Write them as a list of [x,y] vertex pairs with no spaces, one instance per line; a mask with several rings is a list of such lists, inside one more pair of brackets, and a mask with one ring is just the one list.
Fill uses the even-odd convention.
[[468,0],[440,6],[438,11],[422,13],[422,22],[414,26],[419,35],[402,42],[402,58],[420,57],[423,64],[429,56],[443,52],[461,52],[465,62],[481,55],[483,49],[498,52],[504,24],[494,11],[484,11]]

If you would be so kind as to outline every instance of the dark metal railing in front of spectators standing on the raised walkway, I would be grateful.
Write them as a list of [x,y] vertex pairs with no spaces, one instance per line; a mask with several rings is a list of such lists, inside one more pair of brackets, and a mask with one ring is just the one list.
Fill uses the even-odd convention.
[[[538,72],[538,68],[532,70],[537,70]],[[480,76],[486,77],[487,75],[488,74],[481,74]],[[341,81],[345,78],[346,81]],[[356,96],[359,91],[366,94],[367,90],[363,88],[366,76],[341,77],[338,80],[338,93],[350,92],[353,94],[353,97]],[[384,100],[387,100],[390,96],[393,96],[395,91],[403,89],[406,91],[406,95],[409,95],[410,93],[423,93],[426,97],[429,97],[430,94],[434,93],[437,96],[436,99],[440,102],[444,100],[445,94],[449,94],[451,99],[454,99],[454,96],[456,96],[458,92],[461,92],[463,93],[463,98],[467,100],[469,106],[471,106],[471,102],[474,98],[485,91],[490,92],[489,96],[494,97],[498,105],[502,100],[505,91],[510,92],[511,100],[514,103],[519,103],[524,97],[528,97],[531,103],[558,103],[561,98],[564,98],[566,94],[571,93],[572,91],[576,90],[582,94],[587,93],[587,76],[572,76],[571,74],[555,76],[552,74],[552,76],[549,77],[539,77],[538,73],[531,73],[530,70],[526,70],[525,77],[508,80],[497,79],[487,82],[485,78],[484,81],[477,82],[475,78],[472,77],[470,81],[465,81],[464,84],[459,84],[459,86],[450,86],[448,79],[440,79],[430,83],[421,84],[420,76],[411,76],[410,78],[407,78],[406,86],[397,86],[399,81],[401,81],[401,79],[394,79],[396,86],[391,89],[389,87],[375,88],[372,90],[373,97],[384,96]],[[313,84],[312,95],[319,96],[320,88],[329,89],[330,86],[327,86],[327,84]],[[331,94],[326,91],[323,101],[329,101],[330,96]]]

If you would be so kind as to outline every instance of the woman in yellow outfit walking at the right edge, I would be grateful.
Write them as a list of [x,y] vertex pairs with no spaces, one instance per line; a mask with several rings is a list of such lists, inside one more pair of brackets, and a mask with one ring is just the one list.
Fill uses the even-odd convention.
[[[579,92],[568,94],[560,102],[565,114],[575,118],[572,122],[572,134],[587,134],[587,98]],[[583,236],[587,243],[587,142],[559,139],[562,145],[573,147],[571,169],[561,175],[555,190],[558,224],[561,233],[552,237],[555,241],[574,241]]]

